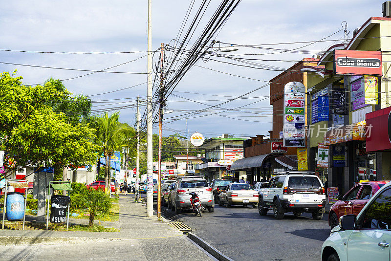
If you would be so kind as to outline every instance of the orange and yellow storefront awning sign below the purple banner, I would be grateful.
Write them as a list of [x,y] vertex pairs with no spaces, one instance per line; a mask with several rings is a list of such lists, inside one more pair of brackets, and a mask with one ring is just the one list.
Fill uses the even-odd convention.
[[333,128],[325,134],[325,146],[352,140],[366,140],[366,132],[365,121]]

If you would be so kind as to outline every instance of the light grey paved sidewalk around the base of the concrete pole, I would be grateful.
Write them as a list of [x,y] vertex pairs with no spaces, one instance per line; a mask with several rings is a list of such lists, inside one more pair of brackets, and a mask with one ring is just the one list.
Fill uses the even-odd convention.
[[146,206],[135,203],[134,198],[120,197],[119,209],[119,232],[0,230],[2,239],[69,239],[65,244],[0,246],[0,252],[5,253],[0,260],[211,260],[167,221],[147,218]]

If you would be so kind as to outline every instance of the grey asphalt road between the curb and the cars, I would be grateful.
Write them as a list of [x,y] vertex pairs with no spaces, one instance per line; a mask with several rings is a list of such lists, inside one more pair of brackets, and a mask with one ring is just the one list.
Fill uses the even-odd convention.
[[197,236],[237,261],[319,261],[330,233],[327,214],[323,220],[313,220],[307,213],[302,217],[286,213],[284,219],[276,220],[272,211],[260,216],[252,207],[228,209],[216,204],[215,212],[206,210],[202,218],[191,211],[175,216],[165,207],[162,215],[187,224]]

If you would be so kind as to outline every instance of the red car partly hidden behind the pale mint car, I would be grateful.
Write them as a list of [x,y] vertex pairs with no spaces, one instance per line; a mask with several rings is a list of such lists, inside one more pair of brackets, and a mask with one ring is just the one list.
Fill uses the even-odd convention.
[[328,214],[328,225],[333,228],[338,225],[338,220],[344,215],[358,215],[371,198],[381,187],[390,181],[367,181],[358,183],[344,196],[339,195]]

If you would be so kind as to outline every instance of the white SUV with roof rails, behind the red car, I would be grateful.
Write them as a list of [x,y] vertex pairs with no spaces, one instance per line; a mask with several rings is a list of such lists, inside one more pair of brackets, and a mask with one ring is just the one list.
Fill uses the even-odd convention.
[[284,172],[260,190],[258,211],[265,216],[273,210],[276,219],[282,219],[285,212],[293,212],[295,216],[309,212],[319,220],[325,213],[325,204],[325,187],[318,176],[310,172]]

